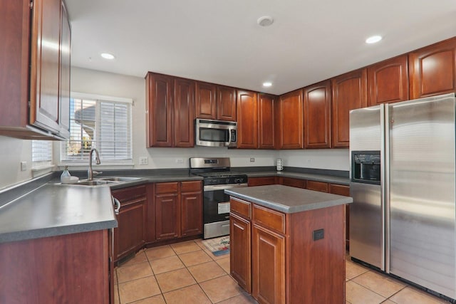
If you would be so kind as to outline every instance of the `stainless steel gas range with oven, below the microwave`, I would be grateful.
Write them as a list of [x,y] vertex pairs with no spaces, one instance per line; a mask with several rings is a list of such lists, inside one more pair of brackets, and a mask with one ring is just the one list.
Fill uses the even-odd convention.
[[229,157],[190,158],[190,173],[203,177],[204,239],[229,234],[229,196],[224,189],[247,187],[247,174],[231,172]]

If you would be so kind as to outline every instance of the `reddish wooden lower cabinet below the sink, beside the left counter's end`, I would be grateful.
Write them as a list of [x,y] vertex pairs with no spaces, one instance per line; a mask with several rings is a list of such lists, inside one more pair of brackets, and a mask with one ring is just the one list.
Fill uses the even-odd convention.
[[118,261],[145,245],[147,239],[146,186],[113,190],[112,194],[120,201],[118,227],[114,229],[114,260]]

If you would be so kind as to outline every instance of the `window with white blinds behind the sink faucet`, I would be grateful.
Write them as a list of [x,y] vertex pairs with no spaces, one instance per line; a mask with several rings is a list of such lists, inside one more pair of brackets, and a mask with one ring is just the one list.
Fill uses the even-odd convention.
[[96,148],[102,161],[131,161],[132,103],[127,98],[71,93],[70,139],[61,144],[61,160],[86,162]]

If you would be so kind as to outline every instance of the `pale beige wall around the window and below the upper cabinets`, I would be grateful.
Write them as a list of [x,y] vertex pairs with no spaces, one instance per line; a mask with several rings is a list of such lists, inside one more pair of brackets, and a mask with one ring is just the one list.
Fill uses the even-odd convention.
[[[187,168],[189,157],[230,157],[233,167],[275,166],[276,159],[282,158],[284,166],[289,167],[348,170],[347,149],[275,151],[228,150],[224,147],[146,148],[144,78],[73,67],[71,90],[133,99],[133,167],[130,167],[133,169]],[[0,137],[0,147],[3,148],[0,152],[0,189],[31,179],[31,141]],[[58,152],[59,144],[56,142],[55,164],[59,161]],[[148,157],[148,164],[140,165],[139,157]],[[250,162],[251,157],[255,158],[255,162]],[[183,162],[178,163],[177,159]],[[28,164],[24,172],[21,172],[21,161]],[[100,169],[103,168],[106,166],[102,164]]]

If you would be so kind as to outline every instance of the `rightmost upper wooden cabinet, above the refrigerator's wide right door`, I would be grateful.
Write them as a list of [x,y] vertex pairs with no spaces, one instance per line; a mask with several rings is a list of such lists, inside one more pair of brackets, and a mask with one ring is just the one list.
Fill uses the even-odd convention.
[[409,53],[410,99],[456,92],[456,38]]

